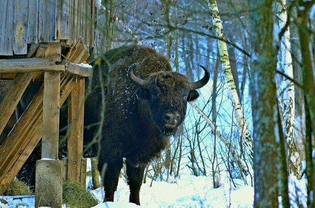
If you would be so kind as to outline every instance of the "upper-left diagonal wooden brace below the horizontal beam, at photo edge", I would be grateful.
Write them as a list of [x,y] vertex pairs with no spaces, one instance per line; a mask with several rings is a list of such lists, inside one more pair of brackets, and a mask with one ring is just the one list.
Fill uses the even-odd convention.
[[0,134],[10,119],[34,73],[16,74],[10,89],[0,103]]

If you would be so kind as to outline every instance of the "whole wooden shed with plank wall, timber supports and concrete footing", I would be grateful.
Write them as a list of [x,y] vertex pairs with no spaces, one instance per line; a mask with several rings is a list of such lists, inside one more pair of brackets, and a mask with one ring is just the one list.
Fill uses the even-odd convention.
[[[94,47],[95,0],[2,0],[0,79],[12,80],[0,101],[0,134],[28,84],[42,87],[0,146],[0,194],[42,138],[35,207],[62,207],[63,178],[85,185],[83,109],[86,63]],[[69,99],[66,171],[58,160],[60,106]],[[63,174],[66,174],[63,177]]]

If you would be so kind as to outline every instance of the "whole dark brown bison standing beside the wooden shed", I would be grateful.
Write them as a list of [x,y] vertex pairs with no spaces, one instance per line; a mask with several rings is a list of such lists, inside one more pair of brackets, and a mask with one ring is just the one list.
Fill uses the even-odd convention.
[[[92,64],[96,90],[86,101],[85,113],[94,119],[87,120],[89,123],[104,116],[98,160],[104,201],[114,200],[125,158],[129,201],[139,205],[146,165],[167,146],[169,136],[185,118],[187,102],[199,96],[196,89],[208,82],[209,72],[202,67],[205,76],[189,83],[186,76],[172,71],[167,58],[137,45],[105,52]],[[103,106],[99,70],[104,83]]]

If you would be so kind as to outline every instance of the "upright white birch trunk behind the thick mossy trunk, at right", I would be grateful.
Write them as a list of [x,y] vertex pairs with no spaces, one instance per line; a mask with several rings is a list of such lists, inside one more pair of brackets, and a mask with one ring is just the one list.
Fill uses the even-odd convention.
[[[277,20],[280,29],[283,29],[287,22],[286,13],[286,1],[281,0],[277,5]],[[291,57],[291,45],[290,45],[290,29],[286,27],[284,36],[280,42],[281,61],[284,74],[293,78],[293,65]],[[283,94],[283,125],[284,125],[284,139],[286,141],[287,148],[287,161],[288,167],[291,173],[293,173],[298,179],[302,176],[301,158],[297,151],[298,142],[294,137],[294,83],[289,79],[284,78],[283,82],[284,94]]]

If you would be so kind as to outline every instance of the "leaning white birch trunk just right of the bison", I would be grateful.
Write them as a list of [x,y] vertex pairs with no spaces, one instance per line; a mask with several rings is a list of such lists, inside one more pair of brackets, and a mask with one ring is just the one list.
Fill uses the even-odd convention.
[[212,22],[215,28],[216,35],[218,36],[217,43],[220,54],[221,66],[225,78],[225,82],[228,85],[228,90],[232,102],[235,104],[234,114],[236,118],[236,125],[238,128],[239,136],[241,139],[241,144],[243,146],[244,159],[249,166],[249,171],[252,174],[252,164],[253,164],[253,149],[252,149],[252,137],[248,130],[248,125],[244,118],[243,107],[240,104],[234,79],[231,72],[230,62],[228,58],[227,46],[225,43],[225,35],[223,27],[221,24],[221,18],[219,16],[219,10],[217,2],[215,0],[208,0],[208,7],[211,13]]

